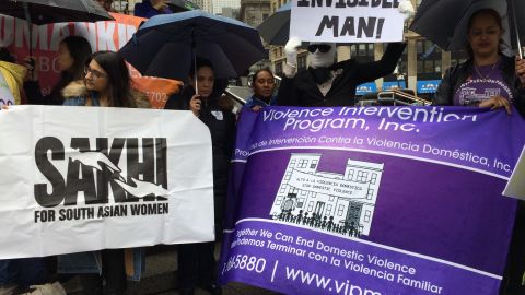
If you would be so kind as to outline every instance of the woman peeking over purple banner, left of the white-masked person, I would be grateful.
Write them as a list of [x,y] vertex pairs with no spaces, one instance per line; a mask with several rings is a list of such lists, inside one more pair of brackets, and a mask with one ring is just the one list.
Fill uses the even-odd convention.
[[270,69],[265,68],[255,72],[252,76],[252,88],[254,95],[246,101],[244,107],[250,108],[253,111],[259,111],[265,106],[275,104],[276,78]]

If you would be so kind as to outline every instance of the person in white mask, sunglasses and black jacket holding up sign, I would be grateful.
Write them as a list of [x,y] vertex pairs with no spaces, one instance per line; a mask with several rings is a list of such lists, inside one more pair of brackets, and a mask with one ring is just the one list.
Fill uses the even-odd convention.
[[354,106],[357,86],[392,73],[406,44],[388,44],[378,61],[349,59],[335,63],[335,43],[311,43],[310,67],[296,72],[299,46],[301,40],[292,37],[284,47],[284,78],[277,95],[281,106]]

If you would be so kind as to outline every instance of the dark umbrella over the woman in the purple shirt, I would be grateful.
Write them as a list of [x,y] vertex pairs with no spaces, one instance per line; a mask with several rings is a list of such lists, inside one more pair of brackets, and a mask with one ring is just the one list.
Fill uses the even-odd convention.
[[506,45],[517,47],[522,55],[518,36],[525,33],[523,0],[423,0],[410,30],[443,49],[463,49],[467,39],[468,20],[474,12],[483,8],[491,8],[500,13],[506,33]]

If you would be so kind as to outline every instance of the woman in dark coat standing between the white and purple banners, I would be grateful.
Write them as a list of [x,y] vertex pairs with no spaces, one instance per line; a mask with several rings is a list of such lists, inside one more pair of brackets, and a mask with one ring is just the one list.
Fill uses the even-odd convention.
[[[194,67],[192,67],[194,69]],[[234,146],[235,116],[233,104],[220,96],[225,88],[215,81],[212,64],[197,58],[195,71],[189,73],[189,84],[180,94],[171,96],[165,109],[191,110],[211,133],[213,154],[213,204],[215,237],[222,233],[230,158]],[[192,295],[197,285],[211,294],[221,294],[215,284],[214,241],[182,244],[178,246],[178,283],[182,295]]]

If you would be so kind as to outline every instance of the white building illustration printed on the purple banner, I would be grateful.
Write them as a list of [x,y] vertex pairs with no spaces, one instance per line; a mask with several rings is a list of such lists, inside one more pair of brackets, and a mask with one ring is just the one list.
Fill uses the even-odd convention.
[[348,236],[369,235],[384,164],[347,160],[345,174],[319,172],[322,154],[293,153],[270,216]]

